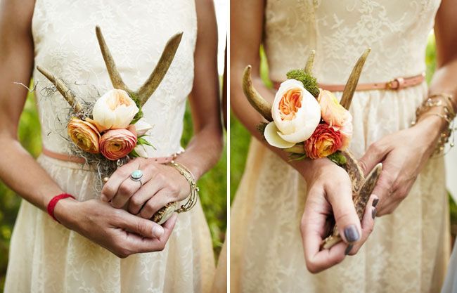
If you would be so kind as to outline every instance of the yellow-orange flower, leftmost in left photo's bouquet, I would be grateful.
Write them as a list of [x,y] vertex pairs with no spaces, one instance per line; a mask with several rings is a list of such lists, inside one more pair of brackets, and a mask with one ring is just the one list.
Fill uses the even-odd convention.
[[91,154],[100,152],[98,148],[100,133],[98,133],[96,126],[77,117],[72,117],[68,122],[67,131],[73,143],[84,152]]

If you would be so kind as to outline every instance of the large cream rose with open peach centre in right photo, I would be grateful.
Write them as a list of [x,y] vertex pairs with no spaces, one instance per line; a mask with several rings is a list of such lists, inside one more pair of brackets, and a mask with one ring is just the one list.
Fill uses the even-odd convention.
[[273,122],[264,131],[266,141],[277,148],[290,148],[313,134],[321,121],[321,107],[301,82],[288,79],[276,93],[271,115]]

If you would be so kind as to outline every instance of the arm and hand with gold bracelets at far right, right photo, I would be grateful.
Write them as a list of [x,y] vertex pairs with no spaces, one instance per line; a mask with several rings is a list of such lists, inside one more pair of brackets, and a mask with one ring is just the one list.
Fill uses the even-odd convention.
[[[451,93],[454,111],[457,105],[457,1],[443,0],[435,19],[437,40],[437,71],[430,84],[429,94]],[[361,159],[368,172],[383,162],[382,174],[373,193],[380,197],[378,215],[392,213],[406,198],[425,163],[435,151],[439,135],[447,123],[442,108],[430,108],[418,123],[373,143]],[[414,141],[413,144],[409,143]]]

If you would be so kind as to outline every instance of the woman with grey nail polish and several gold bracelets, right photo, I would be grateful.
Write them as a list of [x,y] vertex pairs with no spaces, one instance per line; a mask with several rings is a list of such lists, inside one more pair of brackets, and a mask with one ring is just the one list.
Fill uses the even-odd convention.
[[[452,0],[232,1],[231,107],[258,140],[251,142],[232,206],[231,292],[439,292],[449,219],[443,160],[429,157],[446,129],[443,107],[425,107],[410,126],[427,96],[453,94],[455,111],[453,13]],[[427,91],[422,72],[435,14],[439,70]],[[338,97],[356,59],[371,47],[359,81],[368,90],[356,91],[350,108],[350,149],[364,171],[378,162],[383,170],[361,225],[342,169],[328,159],[288,162],[255,129],[262,117],[247,103],[241,76],[252,65],[253,84],[273,100],[275,91],[259,78],[261,45],[276,84],[288,70],[304,67],[315,49],[313,73]],[[332,214],[345,242],[320,251]],[[375,215],[382,217],[370,235]],[[328,269],[312,275],[307,268]]]

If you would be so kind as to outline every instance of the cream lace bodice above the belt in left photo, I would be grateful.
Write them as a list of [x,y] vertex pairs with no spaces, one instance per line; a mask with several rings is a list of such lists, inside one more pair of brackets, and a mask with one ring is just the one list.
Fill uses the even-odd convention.
[[[172,17],[170,17],[172,15]],[[196,39],[195,3],[177,1],[37,0],[32,20],[35,65],[62,78],[83,100],[94,100],[112,89],[95,34],[103,31],[125,84],[136,90],[146,81],[160,54],[176,32],[184,32],[172,65],[143,106],[153,124],[150,157],[180,148],[186,98],[193,84]],[[37,70],[34,82],[45,148],[69,152],[66,121],[69,108],[60,93]]]

